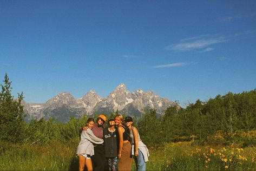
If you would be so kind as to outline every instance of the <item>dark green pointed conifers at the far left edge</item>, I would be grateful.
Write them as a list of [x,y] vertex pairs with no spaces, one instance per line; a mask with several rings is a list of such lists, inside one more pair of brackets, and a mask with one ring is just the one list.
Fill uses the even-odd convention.
[[21,142],[24,138],[24,111],[21,101],[23,93],[18,94],[14,100],[11,95],[11,81],[7,74],[4,77],[4,85],[1,84],[0,93],[0,140],[9,142]]

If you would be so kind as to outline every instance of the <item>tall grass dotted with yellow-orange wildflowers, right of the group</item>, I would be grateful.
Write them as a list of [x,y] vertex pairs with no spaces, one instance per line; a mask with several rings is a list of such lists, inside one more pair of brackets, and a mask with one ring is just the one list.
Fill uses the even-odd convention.
[[169,143],[150,150],[147,170],[256,170],[256,147],[192,146]]

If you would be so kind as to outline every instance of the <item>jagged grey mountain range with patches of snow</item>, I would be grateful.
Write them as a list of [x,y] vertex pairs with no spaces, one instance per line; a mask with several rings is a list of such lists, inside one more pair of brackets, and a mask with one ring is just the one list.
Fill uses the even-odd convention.
[[83,115],[109,114],[118,110],[119,113],[126,113],[128,116],[141,117],[146,109],[156,109],[157,114],[175,102],[167,98],[161,98],[154,94],[154,91],[139,89],[134,92],[126,90],[124,83],[117,86],[106,98],[103,98],[94,90],[90,90],[81,98],[74,98],[68,92],[61,92],[45,103],[22,102],[24,111],[27,114],[25,121],[49,119],[54,117],[59,122],[67,122],[73,115],[80,118]]

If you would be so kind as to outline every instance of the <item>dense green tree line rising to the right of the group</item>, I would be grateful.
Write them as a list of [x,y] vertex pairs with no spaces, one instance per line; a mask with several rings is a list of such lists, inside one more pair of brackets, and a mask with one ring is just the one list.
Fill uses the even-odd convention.
[[251,135],[255,123],[256,89],[217,95],[205,102],[197,100],[186,108],[169,107],[158,119],[151,109],[139,121],[139,128],[150,145],[179,140],[256,144],[255,133]]

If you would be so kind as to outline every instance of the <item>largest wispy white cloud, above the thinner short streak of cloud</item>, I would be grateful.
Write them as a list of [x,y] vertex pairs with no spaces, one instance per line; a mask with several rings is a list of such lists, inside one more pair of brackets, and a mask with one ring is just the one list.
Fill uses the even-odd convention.
[[192,50],[192,49],[202,49],[206,48],[209,45],[217,44],[225,42],[226,40],[223,37],[213,38],[208,40],[196,40],[193,42],[185,42],[185,43],[178,43],[168,45],[166,47],[167,50],[174,50],[174,51],[185,51],[185,50]]

